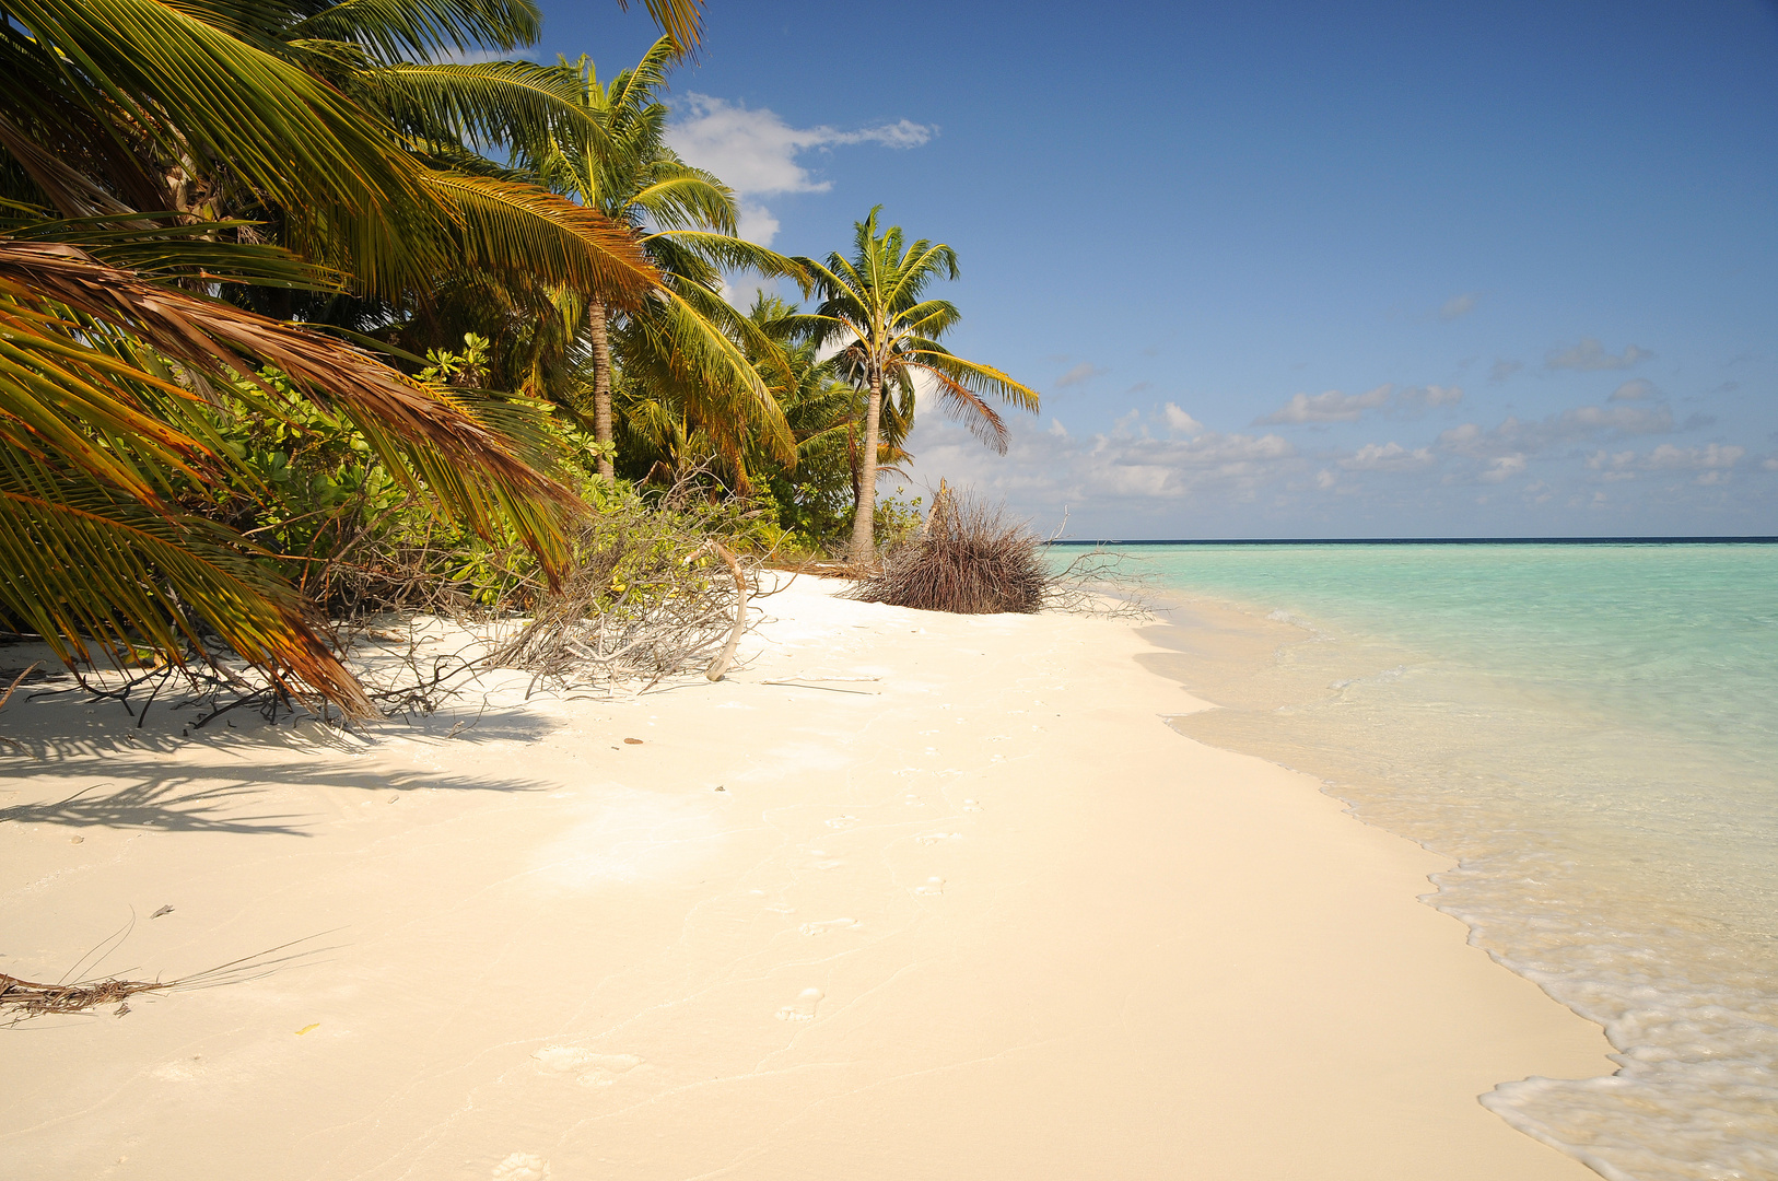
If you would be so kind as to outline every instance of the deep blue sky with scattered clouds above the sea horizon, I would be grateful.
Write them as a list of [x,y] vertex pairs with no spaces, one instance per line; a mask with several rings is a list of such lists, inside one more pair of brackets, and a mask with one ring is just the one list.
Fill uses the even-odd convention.
[[[640,57],[544,0],[539,53]],[[1074,535],[1778,534],[1778,7],[711,0],[745,228],[949,242],[1044,395],[942,475]],[[893,491],[896,480],[884,484]]]

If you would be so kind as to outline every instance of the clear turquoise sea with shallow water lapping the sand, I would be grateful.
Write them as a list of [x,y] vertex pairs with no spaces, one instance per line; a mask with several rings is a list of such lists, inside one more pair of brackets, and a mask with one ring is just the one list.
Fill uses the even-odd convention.
[[1778,1177],[1778,544],[1115,550],[1246,621],[1172,665],[1225,706],[1182,733],[1453,856],[1428,900],[1618,1051],[1486,1106],[1607,1177]]

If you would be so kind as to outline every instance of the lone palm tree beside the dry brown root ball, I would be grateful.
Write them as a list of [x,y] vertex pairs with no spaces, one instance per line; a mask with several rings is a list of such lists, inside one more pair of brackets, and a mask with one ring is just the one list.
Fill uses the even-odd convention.
[[877,553],[871,526],[885,386],[894,384],[903,402],[910,404],[916,379],[928,379],[946,413],[962,418],[978,439],[1003,455],[1006,423],[983,395],[1037,411],[1035,390],[997,368],[965,361],[939,343],[960,313],[948,301],[921,295],[933,279],[958,277],[957,251],[925,238],[903,249],[900,226],[877,231],[880,212],[878,205],[869,217],[853,222],[850,260],[837,253],[829,254],[825,265],[813,258],[791,260],[809,274],[821,297],[814,313],[802,318],[802,331],[823,345],[839,345],[845,368],[868,391],[852,519],[852,560],[861,566]]

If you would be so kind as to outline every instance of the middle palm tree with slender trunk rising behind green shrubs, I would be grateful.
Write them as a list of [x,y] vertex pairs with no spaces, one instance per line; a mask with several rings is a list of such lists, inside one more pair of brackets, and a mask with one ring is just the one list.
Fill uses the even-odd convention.
[[581,57],[573,66],[578,98],[596,130],[565,126],[523,149],[551,187],[626,226],[661,276],[660,288],[640,304],[613,308],[594,295],[587,306],[594,434],[605,477],[615,473],[617,363],[672,384],[725,452],[736,450],[740,434],[752,434],[782,459],[793,462],[795,455],[784,416],[747,356],[749,347],[770,354],[775,345],[722,297],[722,274],[750,269],[798,281],[802,276],[782,254],[738,237],[734,192],[667,146],[667,105],[658,92],[676,57],[674,39],[661,37],[608,84]]

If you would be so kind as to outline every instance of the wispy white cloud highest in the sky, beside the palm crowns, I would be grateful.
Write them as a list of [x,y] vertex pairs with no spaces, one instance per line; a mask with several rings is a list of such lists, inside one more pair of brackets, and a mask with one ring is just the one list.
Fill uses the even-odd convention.
[[766,108],[749,108],[709,94],[686,94],[674,103],[667,142],[688,164],[720,176],[741,197],[741,237],[770,245],[779,222],[756,199],[782,192],[827,192],[798,162],[805,151],[843,144],[919,148],[937,132],[910,119],[841,132],[830,126],[795,128]]

